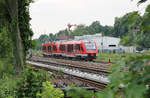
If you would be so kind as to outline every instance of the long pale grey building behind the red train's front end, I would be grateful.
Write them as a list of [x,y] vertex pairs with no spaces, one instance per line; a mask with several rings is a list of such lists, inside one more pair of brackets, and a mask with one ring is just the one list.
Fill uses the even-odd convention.
[[119,42],[120,42],[120,38],[102,36],[102,34],[75,36],[75,40],[95,41],[100,51],[116,50],[119,48]]

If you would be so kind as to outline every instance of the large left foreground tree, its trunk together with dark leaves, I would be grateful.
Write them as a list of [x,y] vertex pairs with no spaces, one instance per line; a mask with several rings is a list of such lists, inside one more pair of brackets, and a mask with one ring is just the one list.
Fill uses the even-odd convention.
[[5,28],[10,32],[8,38],[12,41],[16,73],[23,69],[23,53],[29,49],[27,46],[31,47],[29,37],[32,36],[32,30],[28,9],[31,2],[32,0],[0,0],[0,31]]

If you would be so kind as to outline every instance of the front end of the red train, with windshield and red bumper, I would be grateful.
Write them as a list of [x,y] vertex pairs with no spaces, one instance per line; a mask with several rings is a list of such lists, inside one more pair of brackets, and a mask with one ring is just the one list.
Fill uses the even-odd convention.
[[98,49],[97,49],[96,42],[87,41],[87,42],[84,42],[84,43],[85,43],[88,59],[91,59],[91,60],[95,59],[97,57],[97,54],[98,54]]

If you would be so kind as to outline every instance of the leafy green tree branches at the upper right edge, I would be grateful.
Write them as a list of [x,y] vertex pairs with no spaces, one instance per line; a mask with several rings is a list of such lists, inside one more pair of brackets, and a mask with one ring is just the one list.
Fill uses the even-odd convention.
[[137,46],[140,49],[150,48],[150,5],[147,6],[143,16],[137,12],[132,13],[128,20],[129,33],[123,37],[120,44]]

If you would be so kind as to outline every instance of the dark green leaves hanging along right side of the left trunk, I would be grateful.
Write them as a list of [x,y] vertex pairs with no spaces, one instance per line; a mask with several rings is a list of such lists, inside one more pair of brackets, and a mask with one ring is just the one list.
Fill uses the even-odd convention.
[[32,29],[30,28],[30,15],[29,15],[29,5],[33,0],[18,0],[18,20],[19,29],[21,32],[21,38],[23,43],[24,55],[29,48],[32,47],[31,37],[33,35]]

